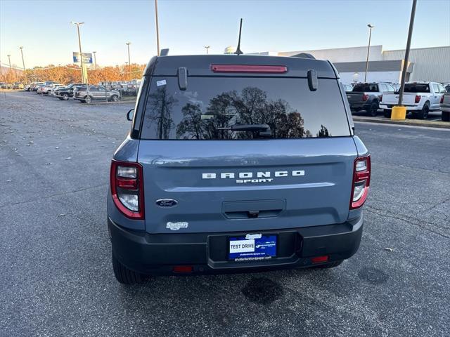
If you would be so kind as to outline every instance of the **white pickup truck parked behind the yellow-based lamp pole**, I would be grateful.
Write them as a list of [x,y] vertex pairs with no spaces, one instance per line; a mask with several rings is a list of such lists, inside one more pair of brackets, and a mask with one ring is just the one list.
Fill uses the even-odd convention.
[[[428,112],[439,111],[444,86],[436,82],[408,82],[405,84],[403,105],[419,119],[426,119]],[[392,107],[399,102],[399,93],[383,93],[380,109],[390,118]]]

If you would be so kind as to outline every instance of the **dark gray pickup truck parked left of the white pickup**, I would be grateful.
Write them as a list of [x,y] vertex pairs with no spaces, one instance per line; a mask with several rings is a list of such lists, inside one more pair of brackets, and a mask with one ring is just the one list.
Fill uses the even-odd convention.
[[356,83],[347,93],[352,111],[365,110],[369,116],[376,116],[383,93],[394,93],[393,86],[386,82]]

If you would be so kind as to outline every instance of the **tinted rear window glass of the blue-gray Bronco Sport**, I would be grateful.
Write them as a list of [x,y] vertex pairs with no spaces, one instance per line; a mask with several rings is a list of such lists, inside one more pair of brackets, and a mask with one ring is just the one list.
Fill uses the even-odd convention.
[[[268,129],[256,130],[266,124]],[[236,130],[236,126],[243,126]],[[338,81],[277,77],[153,77],[141,138],[234,140],[350,136]]]

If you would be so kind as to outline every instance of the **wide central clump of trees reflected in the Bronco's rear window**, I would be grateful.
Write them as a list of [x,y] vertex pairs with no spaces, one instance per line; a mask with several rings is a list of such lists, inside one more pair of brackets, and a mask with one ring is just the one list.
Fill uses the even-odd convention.
[[248,86],[221,93],[210,100],[205,114],[200,105],[186,103],[181,108],[183,119],[176,126],[176,138],[181,139],[251,139],[253,131],[231,131],[224,128],[233,124],[267,124],[272,138],[312,137],[304,128],[304,119],[285,100],[269,100],[266,92]]

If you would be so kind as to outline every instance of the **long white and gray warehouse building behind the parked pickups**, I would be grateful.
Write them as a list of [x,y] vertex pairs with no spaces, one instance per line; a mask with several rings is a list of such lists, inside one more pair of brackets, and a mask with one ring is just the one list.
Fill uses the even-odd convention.
[[[364,81],[367,46],[259,54],[295,56],[300,53],[310,53],[315,58],[333,62],[342,82]],[[367,81],[399,82],[404,55],[404,49],[383,51],[381,45],[371,46]],[[406,81],[450,82],[450,46],[411,49]]]

